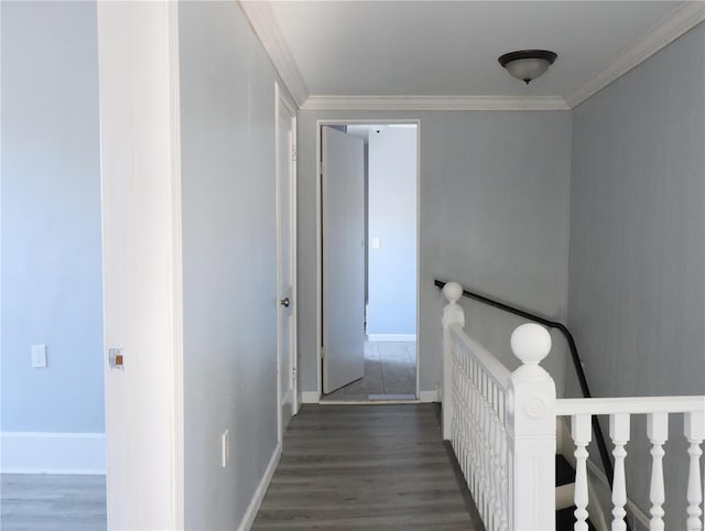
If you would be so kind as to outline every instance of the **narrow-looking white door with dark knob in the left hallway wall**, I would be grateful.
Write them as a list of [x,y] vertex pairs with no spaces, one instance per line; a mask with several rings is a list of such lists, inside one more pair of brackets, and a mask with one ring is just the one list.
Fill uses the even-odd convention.
[[[279,87],[278,87],[279,89]],[[279,90],[278,90],[279,93]],[[295,161],[294,115],[278,97],[276,124],[276,216],[278,216],[278,351],[279,435],[296,412],[295,326]]]

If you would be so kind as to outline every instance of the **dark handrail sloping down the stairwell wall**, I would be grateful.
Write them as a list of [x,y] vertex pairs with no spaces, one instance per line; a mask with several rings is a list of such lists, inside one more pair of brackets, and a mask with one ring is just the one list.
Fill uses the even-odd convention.
[[[436,279],[434,284],[437,288],[443,289],[446,282]],[[463,288],[463,295],[469,299],[475,299],[488,306],[492,306],[505,312],[509,312],[514,315],[519,315],[529,321],[533,321],[535,323],[540,323],[543,326],[547,326],[549,328],[556,328],[563,334],[565,340],[568,344],[568,349],[571,350],[571,357],[573,358],[573,365],[575,366],[575,372],[577,373],[577,379],[581,382],[581,390],[583,391],[583,397],[593,398],[590,393],[590,389],[587,386],[587,379],[585,378],[585,372],[583,371],[583,364],[581,362],[581,357],[577,354],[577,347],[575,346],[575,339],[573,339],[573,334],[568,330],[563,323],[556,323],[555,321],[549,321],[546,318],[540,317],[539,315],[534,315],[524,310],[519,310],[517,307],[510,306],[509,304],[501,303],[499,301],[495,301],[494,299],[489,299],[477,293],[473,293],[471,291]],[[609,458],[609,452],[607,451],[607,445],[605,444],[605,436],[603,435],[603,429],[599,425],[599,421],[597,416],[593,415],[593,431],[595,432],[595,442],[597,443],[597,447],[599,449],[599,456],[603,460],[603,467],[605,468],[605,474],[607,475],[607,480],[609,481],[609,488],[612,488],[612,480],[615,475],[615,469],[612,468],[612,462]]]

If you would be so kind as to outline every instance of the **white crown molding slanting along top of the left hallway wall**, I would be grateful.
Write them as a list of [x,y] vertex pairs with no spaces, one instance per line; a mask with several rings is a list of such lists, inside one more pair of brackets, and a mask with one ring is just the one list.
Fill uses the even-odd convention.
[[276,23],[270,2],[240,0],[240,7],[262,43],[274,69],[297,107],[308,98],[308,88]]

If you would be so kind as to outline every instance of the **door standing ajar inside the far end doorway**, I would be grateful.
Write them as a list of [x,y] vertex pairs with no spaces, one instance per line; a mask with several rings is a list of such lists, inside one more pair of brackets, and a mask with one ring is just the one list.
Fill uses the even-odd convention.
[[365,376],[365,148],[323,127],[323,392]]

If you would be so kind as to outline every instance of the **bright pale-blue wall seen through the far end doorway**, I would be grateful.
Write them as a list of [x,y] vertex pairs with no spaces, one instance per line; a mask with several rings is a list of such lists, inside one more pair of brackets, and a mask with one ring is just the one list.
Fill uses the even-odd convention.
[[[368,334],[416,333],[416,128],[368,140]],[[375,249],[372,240],[379,238]]]

